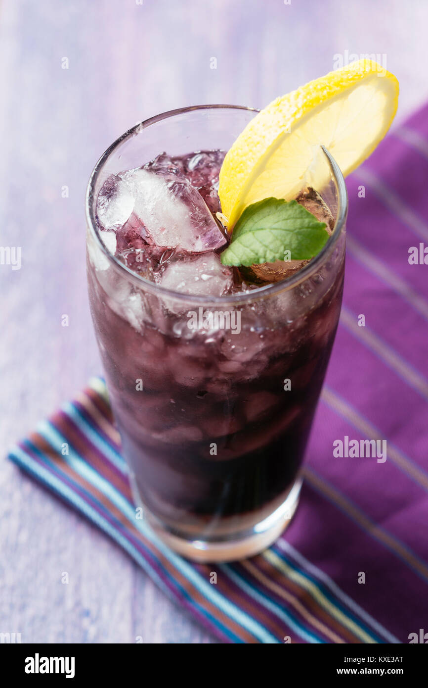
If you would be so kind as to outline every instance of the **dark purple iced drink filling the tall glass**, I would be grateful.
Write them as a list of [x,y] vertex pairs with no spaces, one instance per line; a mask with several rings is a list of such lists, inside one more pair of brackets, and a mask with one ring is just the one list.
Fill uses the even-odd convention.
[[[254,553],[291,517],[343,286],[343,247],[300,281],[309,261],[221,264],[223,157],[161,153],[109,175],[96,222],[117,263],[88,240],[91,313],[136,498],[196,559]],[[331,233],[321,196],[297,200]]]

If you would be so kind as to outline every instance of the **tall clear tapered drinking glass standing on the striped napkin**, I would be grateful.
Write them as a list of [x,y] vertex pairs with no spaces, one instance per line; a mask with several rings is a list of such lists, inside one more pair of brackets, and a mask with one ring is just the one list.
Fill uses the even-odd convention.
[[300,188],[335,220],[322,252],[286,281],[223,297],[172,292],[136,274],[100,238],[96,201],[113,173],[161,151],[227,150],[256,111],[190,107],[124,133],[87,191],[87,274],[95,335],[135,502],[185,557],[231,561],[280,535],[335,338],[346,187],[322,147]]

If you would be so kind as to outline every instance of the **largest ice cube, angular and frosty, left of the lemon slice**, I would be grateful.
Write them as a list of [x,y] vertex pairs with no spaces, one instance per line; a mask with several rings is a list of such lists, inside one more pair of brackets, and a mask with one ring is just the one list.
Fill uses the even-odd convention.
[[181,173],[133,169],[122,174],[122,182],[156,246],[204,252],[225,244],[203,198]]

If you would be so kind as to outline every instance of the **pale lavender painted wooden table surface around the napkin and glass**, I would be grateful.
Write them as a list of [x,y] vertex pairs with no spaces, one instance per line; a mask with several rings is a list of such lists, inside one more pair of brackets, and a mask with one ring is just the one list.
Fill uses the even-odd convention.
[[[345,51],[386,55],[401,121],[428,97],[427,25],[417,0],[3,0],[0,245],[21,246],[23,262],[0,265],[2,455],[100,372],[83,200],[102,151],[168,109],[262,107]],[[0,491],[0,632],[23,643],[215,642],[7,460]]]

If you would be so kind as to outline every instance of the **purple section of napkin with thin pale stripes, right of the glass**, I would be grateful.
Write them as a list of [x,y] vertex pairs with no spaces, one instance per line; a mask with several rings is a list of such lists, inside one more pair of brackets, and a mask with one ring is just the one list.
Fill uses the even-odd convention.
[[[428,265],[408,261],[428,246],[427,182],[425,107],[347,180],[343,312],[286,533],[404,643],[428,630]],[[334,458],[344,436],[387,440],[386,462]]]

